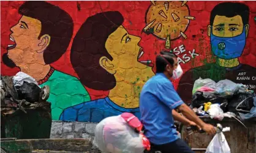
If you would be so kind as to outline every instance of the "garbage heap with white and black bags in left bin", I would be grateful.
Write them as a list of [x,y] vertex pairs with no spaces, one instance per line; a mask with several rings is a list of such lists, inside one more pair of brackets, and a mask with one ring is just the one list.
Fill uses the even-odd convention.
[[[50,88],[39,87],[37,81],[26,73],[15,76],[1,76],[1,114],[11,114],[17,110],[26,113],[26,109],[38,109],[45,105]],[[46,107],[48,108],[48,107]]]

